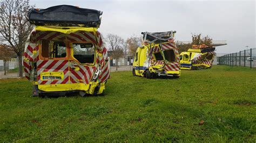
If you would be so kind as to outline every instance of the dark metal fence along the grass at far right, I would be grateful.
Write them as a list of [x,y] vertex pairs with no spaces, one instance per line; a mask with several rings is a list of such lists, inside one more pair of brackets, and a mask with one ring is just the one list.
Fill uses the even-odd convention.
[[219,56],[218,63],[219,65],[256,68],[256,48]]

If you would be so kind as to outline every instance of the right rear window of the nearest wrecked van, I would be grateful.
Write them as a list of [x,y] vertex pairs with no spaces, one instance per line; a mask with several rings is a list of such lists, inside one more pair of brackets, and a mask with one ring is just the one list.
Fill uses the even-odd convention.
[[80,63],[94,63],[95,46],[92,43],[73,43],[73,57]]

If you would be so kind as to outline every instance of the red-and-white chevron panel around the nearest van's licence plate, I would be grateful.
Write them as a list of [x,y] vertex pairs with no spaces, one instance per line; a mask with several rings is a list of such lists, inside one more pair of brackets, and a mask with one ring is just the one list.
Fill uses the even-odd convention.
[[[68,60],[38,60],[37,61],[37,81],[38,84],[65,84],[69,82],[69,64]],[[42,72],[63,71],[63,80],[41,80]]]

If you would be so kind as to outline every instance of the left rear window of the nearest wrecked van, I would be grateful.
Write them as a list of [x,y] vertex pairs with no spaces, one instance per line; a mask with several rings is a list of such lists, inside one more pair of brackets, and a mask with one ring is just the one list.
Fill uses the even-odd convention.
[[66,44],[64,41],[41,40],[43,58],[65,58]]

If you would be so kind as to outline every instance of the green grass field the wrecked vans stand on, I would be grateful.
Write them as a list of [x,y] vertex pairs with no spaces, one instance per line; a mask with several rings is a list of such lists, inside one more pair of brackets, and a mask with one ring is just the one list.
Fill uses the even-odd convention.
[[177,79],[114,72],[89,97],[31,97],[25,78],[0,80],[0,141],[255,142],[255,87],[256,69],[227,66]]

